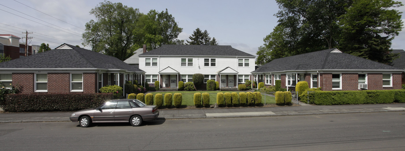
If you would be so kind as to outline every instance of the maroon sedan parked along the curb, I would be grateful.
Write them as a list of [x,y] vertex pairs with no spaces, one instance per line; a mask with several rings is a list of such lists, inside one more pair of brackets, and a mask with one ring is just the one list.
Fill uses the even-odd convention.
[[92,122],[129,122],[139,126],[142,121],[155,120],[159,116],[158,107],[146,105],[137,99],[113,99],[97,108],[74,112],[70,121],[88,127]]

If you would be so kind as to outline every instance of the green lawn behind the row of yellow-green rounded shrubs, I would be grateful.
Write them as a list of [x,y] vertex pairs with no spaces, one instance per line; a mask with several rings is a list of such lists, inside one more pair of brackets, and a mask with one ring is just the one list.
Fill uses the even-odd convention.
[[[215,104],[217,103],[217,93],[232,93],[232,92],[247,92],[247,91],[168,91],[168,92],[152,92],[153,95],[161,93],[161,94],[166,94],[166,93],[172,93],[172,100],[173,100],[173,95],[175,93],[181,93],[181,97],[183,100],[181,101],[181,104],[183,106],[194,106],[194,93],[209,93],[209,104]],[[153,96],[154,98],[154,96]],[[163,97],[164,98],[164,97]],[[264,94],[262,94],[262,104],[264,104]],[[155,102],[155,101],[153,101]],[[266,104],[275,104],[275,98],[271,96],[266,96]],[[164,105],[163,105],[164,106]]]

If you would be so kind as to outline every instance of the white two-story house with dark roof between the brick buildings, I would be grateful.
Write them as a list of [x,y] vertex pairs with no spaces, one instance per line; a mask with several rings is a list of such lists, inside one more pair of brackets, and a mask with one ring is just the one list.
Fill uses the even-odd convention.
[[222,89],[237,88],[252,80],[255,56],[229,45],[162,45],[139,55],[139,69],[146,72],[147,83],[159,81],[161,88],[192,82],[195,73],[204,75],[204,83],[215,80]]

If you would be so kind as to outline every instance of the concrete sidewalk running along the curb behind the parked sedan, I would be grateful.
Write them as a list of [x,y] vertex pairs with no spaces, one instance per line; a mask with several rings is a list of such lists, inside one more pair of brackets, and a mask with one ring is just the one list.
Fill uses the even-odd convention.
[[[269,108],[201,108],[159,110],[158,119],[198,119],[262,116],[294,116],[318,114],[368,113],[368,112],[405,112],[404,103],[394,104],[354,104],[333,106],[280,106]],[[73,112],[25,112],[1,113],[0,123],[70,121]],[[405,113],[404,113],[405,114]]]

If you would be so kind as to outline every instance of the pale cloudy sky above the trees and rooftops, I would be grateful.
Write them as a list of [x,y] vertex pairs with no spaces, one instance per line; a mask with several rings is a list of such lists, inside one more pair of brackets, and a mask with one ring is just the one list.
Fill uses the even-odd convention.
[[[193,30],[207,30],[219,45],[256,55],[263,38],[277,25],[278,6],[274,0],[110,0],[138,8],[164,11],[175,17],[183,28],[178,39],[189,40]],[[405,3],[405,0],[400,0]],[[81,45],[85,24],[94,19],[90,10],[103,0],[3,0],[0,3],[0,34],[25,37],[21,32],[34,32],[30,45],[49,43],[55,47],[68,43]],[[401,6],[401,12],[405,6]],[[38,10],[38,11],[37,11]],[[42,13],[41,13],[42,12]],[[405,21],[405,16],[402,16]],[[392,41],[393,49],[405,49],[405,30]],[[22,40],[20,40],[22,42]],[[25,42],[25,39],[24,39]],[[91,49],[90,47],[85,47]]]

